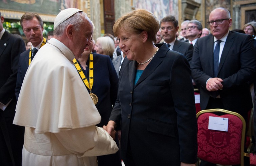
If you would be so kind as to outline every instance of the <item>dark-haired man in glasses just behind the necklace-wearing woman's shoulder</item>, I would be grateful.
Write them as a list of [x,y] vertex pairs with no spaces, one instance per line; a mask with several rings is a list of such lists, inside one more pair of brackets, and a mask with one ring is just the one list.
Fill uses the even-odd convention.
[[170,50],[182,53],[190,63],[193,55],[193,45],[176,39],[176,33],[179,29],[178,20],[174,16],[166,16],[160,21],[160,29],[164,43],[169,44]]

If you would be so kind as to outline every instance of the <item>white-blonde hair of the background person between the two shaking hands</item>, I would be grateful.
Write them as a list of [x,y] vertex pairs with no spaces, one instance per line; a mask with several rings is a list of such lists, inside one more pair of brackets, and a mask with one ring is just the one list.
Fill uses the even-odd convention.
[[97,42],[100,43],[104,55],[109,55],[110,57],[113,56],[114,50],[115,50],[115,43],[111,39],[111,37],[104,36],[97,38]]

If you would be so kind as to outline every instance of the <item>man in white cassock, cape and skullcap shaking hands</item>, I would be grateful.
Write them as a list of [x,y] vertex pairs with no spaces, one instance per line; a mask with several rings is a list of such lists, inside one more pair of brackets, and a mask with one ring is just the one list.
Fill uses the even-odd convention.
[[25,126],[23,166],[95,166],[95,156],[118,150],[111,136],[95,126],[100,114],[72,62],[81,57],[92,33],[82,10],[62,10],[54,38],[29,66],[13,122]]

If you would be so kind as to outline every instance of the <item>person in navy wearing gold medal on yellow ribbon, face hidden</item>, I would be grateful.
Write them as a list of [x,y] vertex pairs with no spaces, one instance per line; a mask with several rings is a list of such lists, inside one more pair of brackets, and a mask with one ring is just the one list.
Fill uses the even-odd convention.
[[[97,126],[102,127],[108,123],[116,101],[118,77],[110,56],[92,53],[92,46],[93,41],[88,41],[82,57],[73,62],[100,113],[101,122]],[[117,136],[115,141],[119,146]],[[98,166],[121,166],[119,151],[97,159]]]

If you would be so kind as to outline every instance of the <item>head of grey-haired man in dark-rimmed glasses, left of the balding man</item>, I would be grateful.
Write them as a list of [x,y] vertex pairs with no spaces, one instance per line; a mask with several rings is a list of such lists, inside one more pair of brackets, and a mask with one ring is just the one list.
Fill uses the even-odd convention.
[[189,21],[187,27],[186,27],[186,35],[189,39],[188,42],[190,44],[193,44],[195,46],[196,41],[198,38],[200,38],[202,34],[202,24],[198,20],[191,20]]

